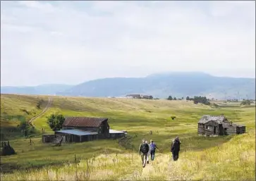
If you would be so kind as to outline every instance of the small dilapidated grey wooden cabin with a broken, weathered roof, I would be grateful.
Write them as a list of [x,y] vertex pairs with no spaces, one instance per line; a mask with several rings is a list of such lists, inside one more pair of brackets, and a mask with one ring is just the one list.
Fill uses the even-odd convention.
[[245,125],[234,124],[225,116],[204,115],[198,122],[198,135],[218,136],[245,133]]

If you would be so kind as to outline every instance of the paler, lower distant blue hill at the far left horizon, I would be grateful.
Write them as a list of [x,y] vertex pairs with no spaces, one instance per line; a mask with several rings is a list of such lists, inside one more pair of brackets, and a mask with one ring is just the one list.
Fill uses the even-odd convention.
[[1,94],[50,94],[54,95],[56,92],[64,91],[73,87],[73,85],[38,85],[35,87],[1,87]]

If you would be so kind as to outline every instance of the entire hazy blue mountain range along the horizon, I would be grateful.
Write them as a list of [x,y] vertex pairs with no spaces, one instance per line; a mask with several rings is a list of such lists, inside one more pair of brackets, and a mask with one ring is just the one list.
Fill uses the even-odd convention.
[[209,99],[255,99],[255,78],[216,77],[207,73],[159,73],[147,77],[114,77],[90,80],[79,85],[1,87],[1,94],[56,94],[62,96],[125,96],[147,94],[207,96]]

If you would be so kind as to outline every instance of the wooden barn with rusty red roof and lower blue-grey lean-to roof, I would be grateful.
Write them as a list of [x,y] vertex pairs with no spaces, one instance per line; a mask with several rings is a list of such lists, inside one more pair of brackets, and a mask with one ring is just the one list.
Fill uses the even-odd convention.
[[63,137],[62,143],[88,142],[95,139],[116,139],[126,135],[123,131],[110,130],[108,118],[68,117],[62,125],[62,130],[55,135],[43,135],[43,142],[53,142],[54,137]]

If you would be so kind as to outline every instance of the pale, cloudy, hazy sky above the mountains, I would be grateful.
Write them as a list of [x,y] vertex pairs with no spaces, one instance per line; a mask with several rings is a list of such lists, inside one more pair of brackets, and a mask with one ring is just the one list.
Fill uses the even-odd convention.
[[1,1],[1,85],[255,77],[255,1]]

